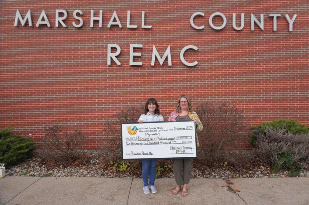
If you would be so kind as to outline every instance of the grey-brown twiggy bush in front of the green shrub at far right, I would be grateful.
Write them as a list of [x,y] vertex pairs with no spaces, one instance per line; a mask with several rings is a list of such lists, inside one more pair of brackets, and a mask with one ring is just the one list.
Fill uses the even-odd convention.
[[292,172],[309,168],[309,134],[292,134],[284,128],[270,127],[253,133],[257,138],[254,151],[262,162]]

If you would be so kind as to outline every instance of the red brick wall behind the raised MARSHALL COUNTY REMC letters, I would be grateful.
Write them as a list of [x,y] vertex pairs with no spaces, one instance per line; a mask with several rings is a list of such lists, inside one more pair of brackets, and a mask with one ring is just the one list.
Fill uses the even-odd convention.
[[[56,10],[67,10],[68,17],[56,27]],[[16,12],[22,18],[31,10],[32,24],[19,21],[14,26]],[[36,24],[44,10],[50,27]],[[81,10],[83,26],[73,16]],[[91,10],[99,17],[91,27]],[[127,28],[127,11],[130,25]],[[113,12],[122,28],[108,23]],[[145,25],[142,28],[142,11]],[[190,18],[196,12],[194,24]],[[226,26],[214,30],[210,15],[221,12]],[[244,28],[236,26],[244,13]],[[29,135],[38,143],[44,136],[44,126],[54,123],[85,131],[87,148],[98,147],[105,120],[125,107],[146,102],[155,97],[160,111],[168,118],[181,94],[187,94],[193,105],[210,101],[228,102],[255,117],[252,125],[275,119],[296,119],[309,125],[309,7],[303,1],[1,1],[1,129],[14,122],[15,134]],[[251,14],[260,21],[264,14],[264,30],[254,24]],[[277,31],[273,31],[273,18]],[[293,31],[284,17],[297,14]],[[60,17],[63,14],[60,14]],[[44,18],[43,20],[44,21]],[[223,19],[215,16],[214,26]],[[108,65],[108,44],[117,44],[121,53]],[[129,65],[130,45],[142,44],[134,52]],[[188,45],[184,59],[197,61],[193,67],[180,61],[181,50]],[[167,59],[162,66],[151,66],[153,46],[162,57],[168,46],[172,66]],[[116,49],[112,49],[115,53]],[[241,147],[246,145],[241,144]]]

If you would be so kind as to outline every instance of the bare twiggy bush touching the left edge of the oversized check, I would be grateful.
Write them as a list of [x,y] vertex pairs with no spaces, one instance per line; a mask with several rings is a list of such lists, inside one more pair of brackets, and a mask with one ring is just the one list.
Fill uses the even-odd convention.
[[108,152],[105,161],[121,160],[121,123],[137,122],[144,113],[144,104],[127,107],[114,114],[115,120],[107,119],[103,129],[103,139],[100,140],[101,151]]

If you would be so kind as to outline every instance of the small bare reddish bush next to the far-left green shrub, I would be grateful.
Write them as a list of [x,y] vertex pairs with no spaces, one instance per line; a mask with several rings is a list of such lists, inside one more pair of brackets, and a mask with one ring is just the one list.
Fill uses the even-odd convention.
[[78,159],[85,145],[86,135],[75,129],[69,132],[60,125],[44,127],[43,146],[45,157],[54,162],[69,162]]

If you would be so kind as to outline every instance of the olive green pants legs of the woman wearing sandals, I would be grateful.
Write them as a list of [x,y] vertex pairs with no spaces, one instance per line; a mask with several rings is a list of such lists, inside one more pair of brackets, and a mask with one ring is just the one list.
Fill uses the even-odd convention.
[[178,186],[190,182],[192,162],[193,159],[173,159],[173,173]]

